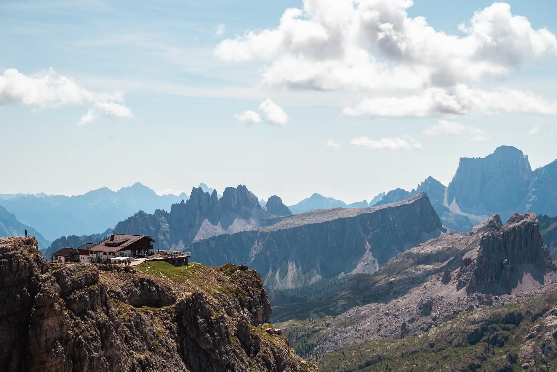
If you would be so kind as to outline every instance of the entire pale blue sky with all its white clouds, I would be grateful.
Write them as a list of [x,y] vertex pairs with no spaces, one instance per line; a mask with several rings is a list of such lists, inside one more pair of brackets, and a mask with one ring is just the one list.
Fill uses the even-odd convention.
[[557,158],[557,3],[0,2],[0,193],[245,184],[287,205]]

